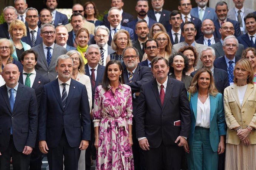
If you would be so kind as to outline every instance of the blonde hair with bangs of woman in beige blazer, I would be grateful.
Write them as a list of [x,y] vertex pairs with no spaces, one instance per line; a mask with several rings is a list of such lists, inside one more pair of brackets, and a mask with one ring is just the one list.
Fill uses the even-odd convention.
[[253,84],[254,71],[253,71],[252,64],[250,63],[249,59],[246,59],[246,58],[242,58],[242,59],[240,59],[236,62],[236,65],[234,67],[234,72],[233,72],[234,83],[237,83],[235,70],[236,70],[238,65],[240,65],[243,69],[245,69],[246,71],[249,72],[249,76],[247,77],[247,84],[249,84],[249,83]]

